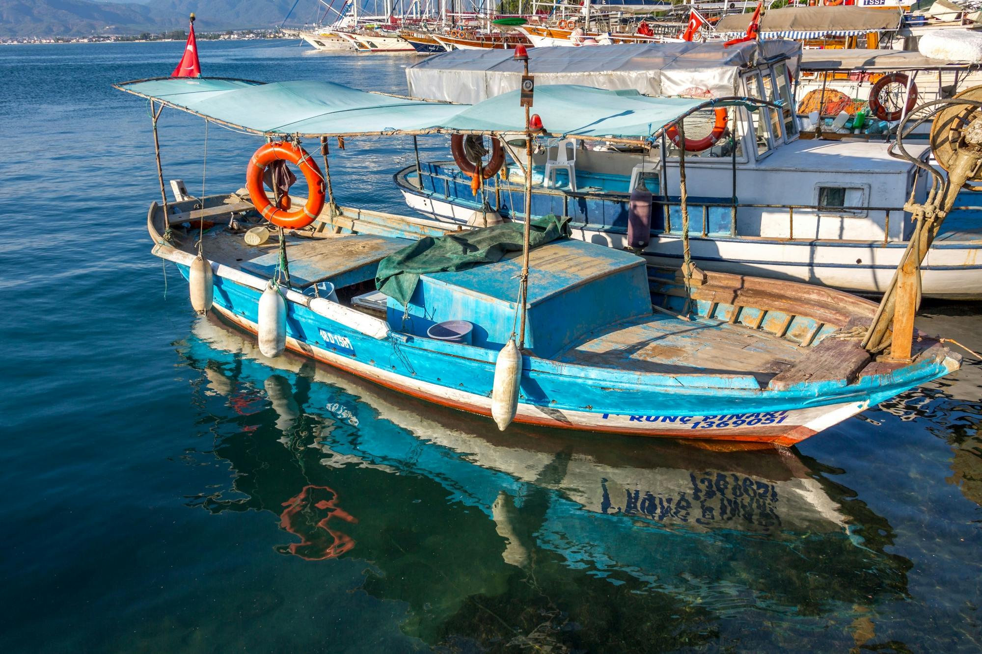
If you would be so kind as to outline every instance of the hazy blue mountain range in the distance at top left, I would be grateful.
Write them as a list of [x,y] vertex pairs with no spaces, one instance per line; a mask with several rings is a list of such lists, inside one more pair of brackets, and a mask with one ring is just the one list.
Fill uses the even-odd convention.
[[[198,31],[278,27],[295,0],[0,0],[0,37],[138,34],[188,27]],[[338,6],[341,2],[339,0]],[[300,0],[287,25],[317,14],[317,0]]]

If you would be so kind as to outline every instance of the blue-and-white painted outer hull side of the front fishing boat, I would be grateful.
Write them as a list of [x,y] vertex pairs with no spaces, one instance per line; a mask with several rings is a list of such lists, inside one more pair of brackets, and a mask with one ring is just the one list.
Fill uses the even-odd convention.
[[[187,277],[187,267],[179,267]],[[260,293],[217,275],[214,287],[217,312],[256,332]],[[289,349],[414,397],[490,415],[495,351],[398,332],[373,338],[300,303],[287,304]],[[747,388],[745,380],[730,375],[640,373],[524,356],[516,420],[791,445],[956,367],[943,354],[922,356],[892,374],[861,377],[848,386],[815,383],[772,391]]]

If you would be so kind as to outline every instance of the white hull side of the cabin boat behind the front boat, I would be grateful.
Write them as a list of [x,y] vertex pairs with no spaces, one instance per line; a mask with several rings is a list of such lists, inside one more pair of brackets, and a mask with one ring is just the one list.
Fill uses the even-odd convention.
[[[401,190],[406,203],[424,216],[466,225],[473,209]],[[573,238],[624,249],[627,236],[573,229]],[[821,284],[851,293],[882,294],[900,263],[903,244],[834,243],[779,239],[736,239],[692,236],[692,260],[717,272],[774,277]],[[642,252],[652,264],[679,267],[682,237],[659,235]],[[982,300],[982,242],[935,244],[923,267],[922,293],[946,300]]]

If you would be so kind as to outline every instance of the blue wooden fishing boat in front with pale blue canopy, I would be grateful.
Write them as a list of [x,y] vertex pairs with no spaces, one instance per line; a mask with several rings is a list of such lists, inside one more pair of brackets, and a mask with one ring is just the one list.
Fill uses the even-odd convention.
[[[882,346],[877,330],[890,324],[893,307],[798,283],[703,272],[690,261],[682,271],[652,268],[634,253],[564,238],[562,220],[537,225],[531,236],[526,231],[511,251],[503,246],[491,256],[490,247],[467,259],[481,239],[506,244],[518,234],[511,228],[521,227],[461,233],[338,207],[329,178],[317,177],[320,169],[298,142],[523,130],[530,138],[638,142],[707,101],[546,86],[536,91],[535,109],[550,127],[532,132],[518,93],[461,106],[326,82],[119,87],[150,98],[154,129],[160,110],[172,106],[271,137],[248,164],[247,196],[173,202],[163,194],[160,169],[162,201],[147,219],[154,253],[189,278],[195,308],[257,333],[267,354],[293,350],[413,397],[493,415],[499,426],[514,419],[780,445],[958,367],[956,354],[924,335],[904,352],[912,312],[902,296],[892,357],[883,358],[877,354],[890,344]],[[326,171],[326,146],[321,151]],[[263,162],[277,157],[299,163],[306,176],[310,197],[302,209],[288,211],[280,191],[261,187]],[[325,187],[330,201],[311,204]],[[282,225],[302,222],[304,214],[306,225],[281,228],[278,239],[256,236],[267,218]],[[448,262],[455,247],[462,254]],[[385,294],[376,290],[380,276]],[[513,351],[508,368],[502,361]],[[503,420],[512,392],[512,414]]]

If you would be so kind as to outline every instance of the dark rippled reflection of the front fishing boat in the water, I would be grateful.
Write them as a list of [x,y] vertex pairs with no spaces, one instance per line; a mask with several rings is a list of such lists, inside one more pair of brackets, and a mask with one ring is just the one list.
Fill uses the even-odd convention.
[[235,473],[192,504],[272,512],[294,534],[284,554],[365,561],[363,589],[408,603],[403,630],[430,644],[666,649],[715,641],[734,618],[771,627],[743,645],[836,624],[851,647],[907,597],[891,525],[793,451],[501,433],[264,359],[206,319],[180,352]]

